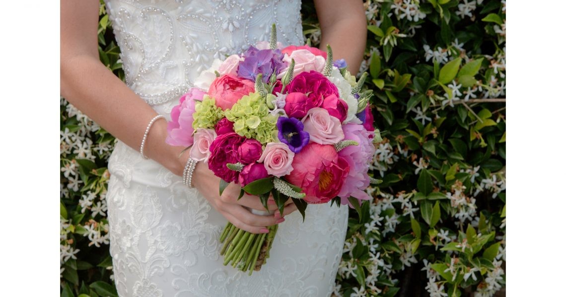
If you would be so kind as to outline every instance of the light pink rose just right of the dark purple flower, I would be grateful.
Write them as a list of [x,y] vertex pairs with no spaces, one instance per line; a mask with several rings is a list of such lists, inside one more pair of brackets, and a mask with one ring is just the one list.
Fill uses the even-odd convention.
[[336,144],[344,139],[344,131],[340,120],[332,117],[320,107],[315,107],[308,111],[302,119],[305,131],[311,136],[311,141],[318,144]]

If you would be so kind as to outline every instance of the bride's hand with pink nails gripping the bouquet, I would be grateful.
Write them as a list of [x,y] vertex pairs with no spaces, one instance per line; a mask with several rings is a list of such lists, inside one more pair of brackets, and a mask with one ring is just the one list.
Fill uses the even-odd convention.
[[[224,189],[222,195],[219,195],[218,184],[220,184],[220,178],[216,177],[203,162],[199,162],[196,165],[193,174],[193,184],[217,212],[239,229],[255,234],[268,233],[268,226],[285,221],[285,218],[281,217],[278,211],[267,216],[251,213],[248,209],[265,211],[265,208],[258,196],[244,194],[238,200],[241,188],[237,184],[230,183]],[[273,199],[268,200],[268,209],[270,212],[277,210],[277,205]],[[285,205],[283,216],[294,210],[297,210],[297,206],[289,199]]]

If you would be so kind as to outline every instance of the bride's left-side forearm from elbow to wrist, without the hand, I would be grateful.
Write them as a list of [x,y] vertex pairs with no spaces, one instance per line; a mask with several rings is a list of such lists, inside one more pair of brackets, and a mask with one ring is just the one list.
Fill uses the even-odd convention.
[[[139,150],[149,121],[157,113],[92,55],[61,61],[61,94],[114,137]],[[145,141],[144,154],[181,175],[182,147],[165,143],[167,123],[158,119]]]

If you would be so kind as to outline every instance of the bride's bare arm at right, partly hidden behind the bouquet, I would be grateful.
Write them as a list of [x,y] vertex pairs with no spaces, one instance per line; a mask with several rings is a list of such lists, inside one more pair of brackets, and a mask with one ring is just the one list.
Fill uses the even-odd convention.
[[320,48],[332,47],[334,59],[345,59],[355,75],[366,49],[367,22],[361,0],[314,0],[320,22]]

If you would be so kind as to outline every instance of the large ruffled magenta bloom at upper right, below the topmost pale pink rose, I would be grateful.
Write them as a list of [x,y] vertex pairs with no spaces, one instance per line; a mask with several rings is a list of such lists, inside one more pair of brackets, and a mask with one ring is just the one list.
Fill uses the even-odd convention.
[[286,91],[306,94],[312,102],[322,101],[332,94],[340,97],[336,85],[316,71],[298,74],[291,80]]

